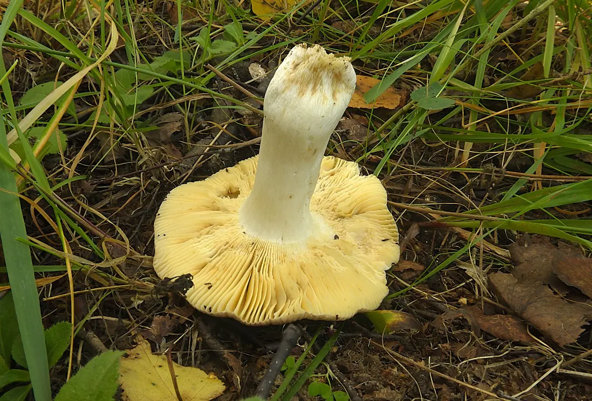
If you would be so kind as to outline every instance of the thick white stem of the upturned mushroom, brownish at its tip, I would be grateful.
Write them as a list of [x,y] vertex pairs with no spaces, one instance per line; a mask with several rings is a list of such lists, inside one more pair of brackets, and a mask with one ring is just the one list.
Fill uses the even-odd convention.
[[255,183],[240,210],[248,234],[298,242],[316,231],[310,198],[355,82],[349,58],[334,57],[318,45],[298,45],[280,64],[265,93]]

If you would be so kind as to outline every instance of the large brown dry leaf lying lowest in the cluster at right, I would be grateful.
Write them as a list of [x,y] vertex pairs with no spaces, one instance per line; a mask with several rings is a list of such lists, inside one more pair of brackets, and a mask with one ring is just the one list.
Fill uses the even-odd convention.
[[584,309],[556,296],[548,286],[519,283],[507,273],[490,274],[498,299],[559,345],[572,344],[584,331]]

